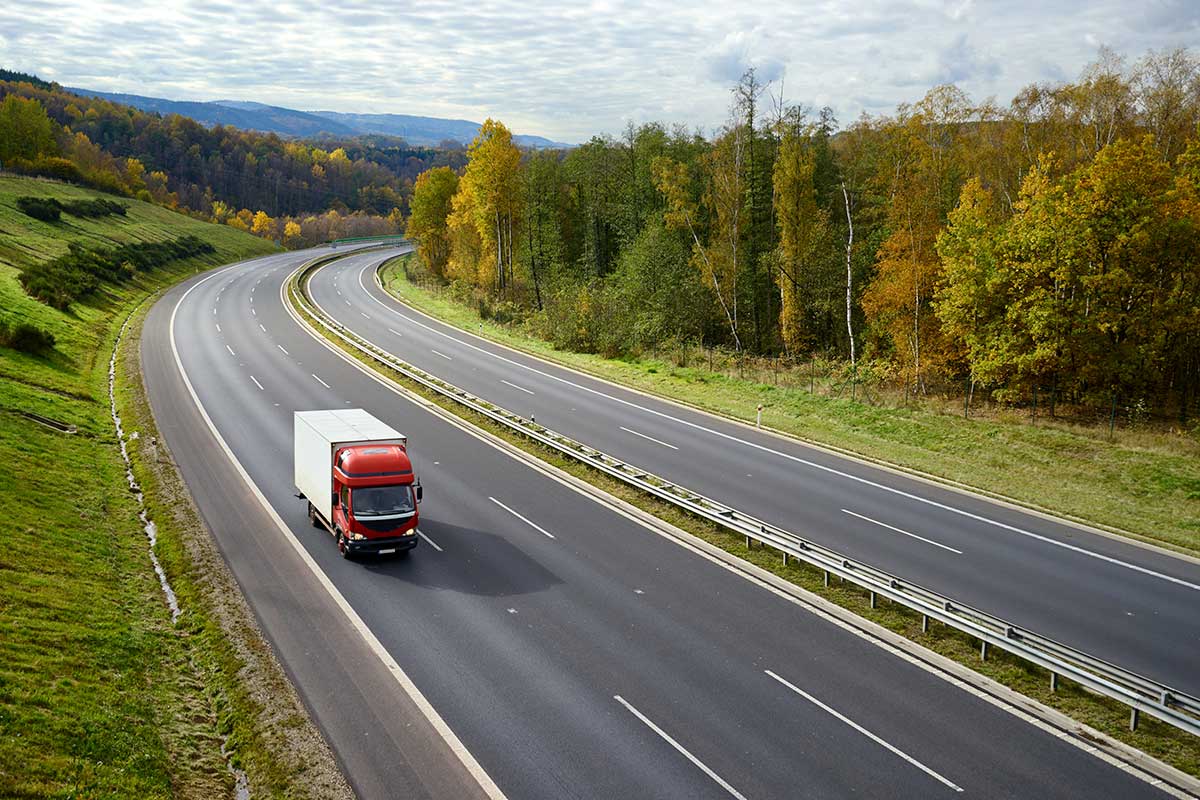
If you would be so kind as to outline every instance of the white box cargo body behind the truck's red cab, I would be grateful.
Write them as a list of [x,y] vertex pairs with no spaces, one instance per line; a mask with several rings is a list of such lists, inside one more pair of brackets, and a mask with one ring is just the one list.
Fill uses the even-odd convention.
[[295,413],[296,491],[326,522],[332,518],[334,453],[368,444],[406,446],[408,438],[360,408]]

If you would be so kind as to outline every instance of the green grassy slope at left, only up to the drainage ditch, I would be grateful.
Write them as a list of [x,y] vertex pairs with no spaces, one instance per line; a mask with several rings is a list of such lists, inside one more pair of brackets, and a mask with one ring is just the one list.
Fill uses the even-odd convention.
[[[59,223],[20,196],[92,198],[49,181],[0,178],[0,319],[58,343],[44,357],[0,348],[0,796],[228,795],[224,711],[151,570],[108,407],[108,360],[143,299],[200,269],[272,251],[269,242],[136,200],[127,217]],[[22,266],[70,241],[113,246],[193,234],[216,247],[59,312],[28,297]],[[78,426],[64,434],[22,411]]]

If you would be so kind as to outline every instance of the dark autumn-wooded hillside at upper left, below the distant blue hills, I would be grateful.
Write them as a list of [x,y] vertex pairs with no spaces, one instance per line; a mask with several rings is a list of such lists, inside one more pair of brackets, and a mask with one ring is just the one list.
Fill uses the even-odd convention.
[[209,128],[0,71],[0,167],[151,200],[294,246],[331,233],[397,233],[414,179],[464,162],[460,148],[413,148],[390,137],[296,142]]

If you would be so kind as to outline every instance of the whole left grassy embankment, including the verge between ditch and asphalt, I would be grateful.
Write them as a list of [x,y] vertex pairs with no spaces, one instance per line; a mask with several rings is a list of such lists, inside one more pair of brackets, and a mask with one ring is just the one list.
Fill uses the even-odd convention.
[[[96,194],[0,178],[0,321],[32,324],[55,341],[40,355],[0,347],[0,515],[7,521],[0,534],[0,796],[232,796],[230,763],[248,774],[256,796],[338,796],[341,776],[328,752],[311,748],[301,758],[287,741],[304,741],[307,720],[257,638],[253,616],[234,614],[236,587],[222,583],[212,565],[184,558],[174,517],[192,513],[190,500],[181,483],[161,477],[178,481],[164,451],[163,463],[145,457],[156,434],[142,395],[138,319],[122,339],[116,399],[126,432],[138,433],[134,474],[182,606],[178,624],[151,569],[109,415],[108,361],[131,311],[140,305],[144,312],[156,291],[198,270],[274,247],[136,200],[120,200],[126,215],[58,223],[16,207],[18,197],[68,203]],[[103,284],[67,311],[30,299],[17,282],[20,269],[62,254],[68,242],[110,248],[188,234],[216,253]],[[188,533],[208,536],[198,521]],[[276,676],[268,680],[256,658],[274,664]],[[271,693],[265,712],[264,692]]]

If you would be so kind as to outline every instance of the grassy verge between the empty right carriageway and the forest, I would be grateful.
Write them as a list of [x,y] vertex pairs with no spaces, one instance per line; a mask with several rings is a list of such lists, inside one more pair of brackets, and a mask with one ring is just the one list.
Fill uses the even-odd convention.
[[[686,366],[557,350],[526,330],[484,320],[444,293],[408,281],[404,259],[382,271],[385,289],[413,307],[502,344],[708,411],[755,421],[808,441],[949,480],[1193,555],[1200,554],[1200,431],[1028,425],[1015,411],[964,420],[954,413],[890,408]],[[766,380],[770,380],[763,375]],[[1007,420],[1007,421],[1006,421]]]

